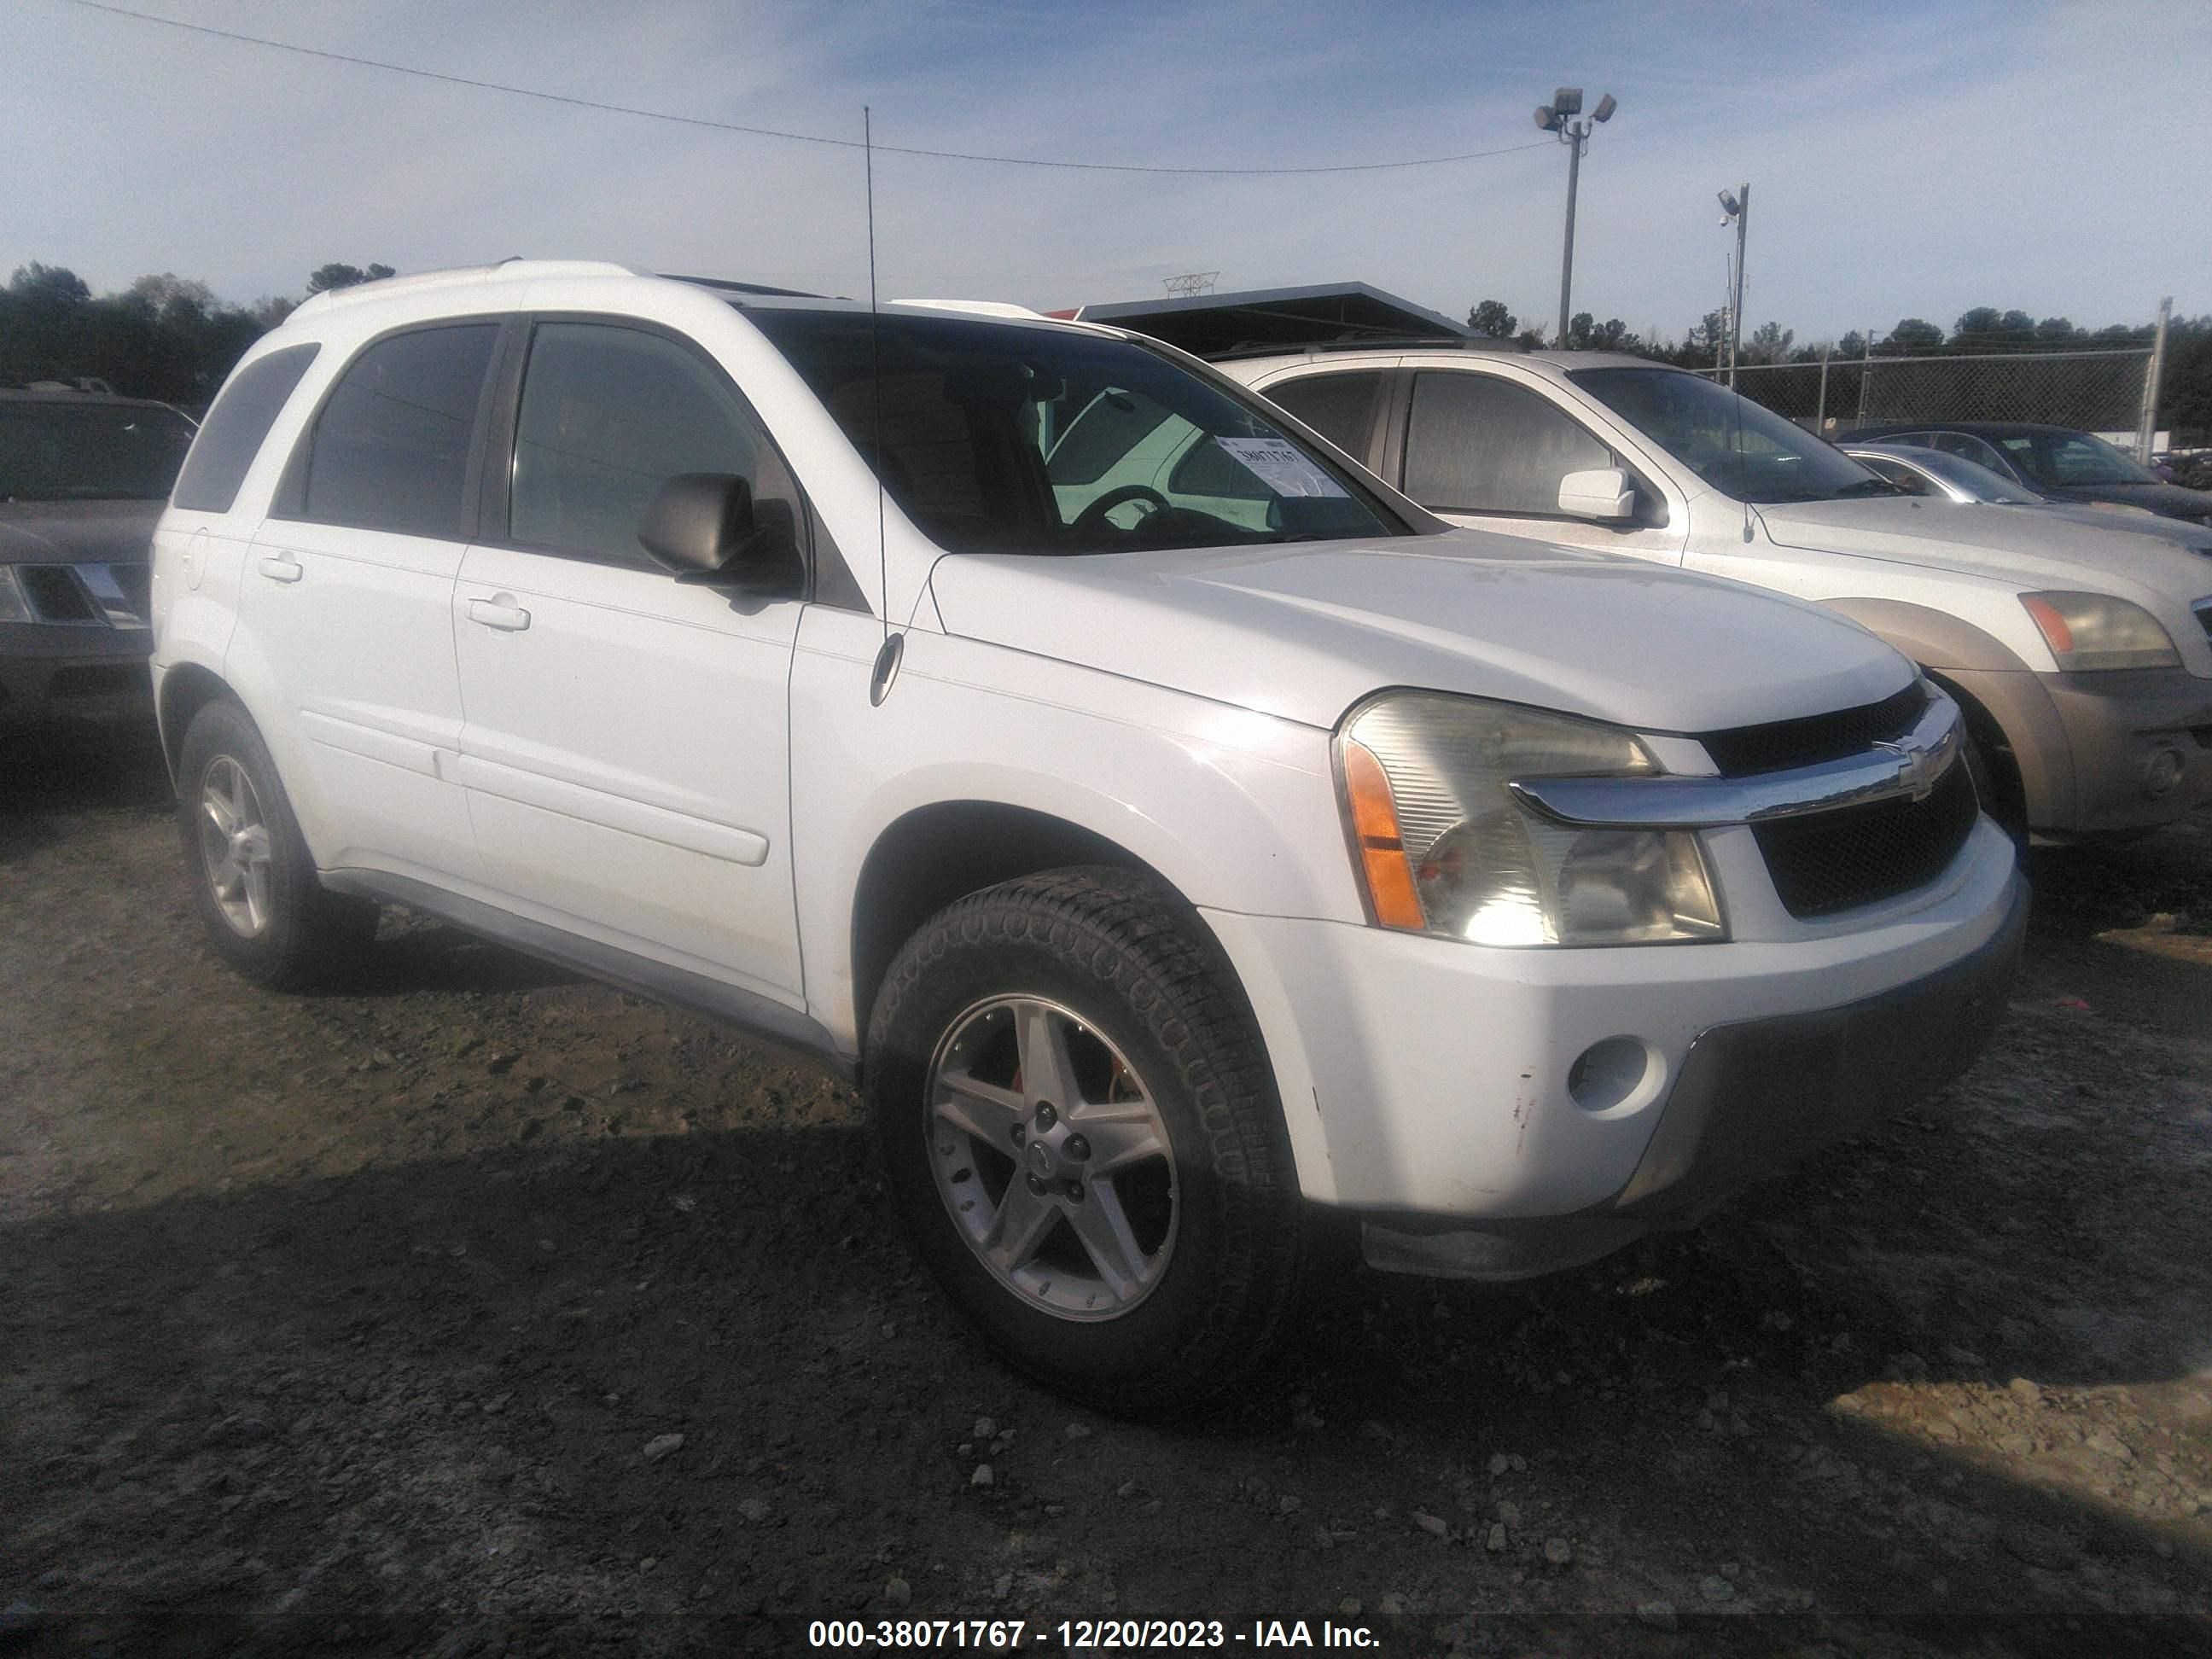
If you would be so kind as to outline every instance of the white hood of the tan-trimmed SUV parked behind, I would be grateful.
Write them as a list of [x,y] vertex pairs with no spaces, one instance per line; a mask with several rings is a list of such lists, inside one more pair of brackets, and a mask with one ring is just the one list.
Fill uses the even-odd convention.
[[2137,535],[2126,520],[2104,526],[2039,507],[1922,498],[1772,502],[1752,511],[1776,546],[1964,571],[2028,591],[2112,593],[2154,611],[2163,608],[2157,599],[2188,604],[2212,593],[2212,566],[2201,553]]

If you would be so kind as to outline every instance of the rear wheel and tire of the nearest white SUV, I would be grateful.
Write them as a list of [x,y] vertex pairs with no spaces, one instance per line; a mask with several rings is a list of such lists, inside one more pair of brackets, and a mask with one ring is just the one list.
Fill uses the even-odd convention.
[[177,832],[208,945],[272,991],[327,984],[376,933],[376,905],[327,891],[268,745],[232,701],[201,708],[177,754]]

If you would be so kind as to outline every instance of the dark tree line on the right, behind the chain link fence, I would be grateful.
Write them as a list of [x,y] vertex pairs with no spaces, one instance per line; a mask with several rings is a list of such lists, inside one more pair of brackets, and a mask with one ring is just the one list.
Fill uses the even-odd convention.
[[[1484,299],[1467,312],[1467,327],[1493,341],[1517,341],[1526,347],[1548,345],[1544,330],[1522,327],[1504,301]],[[1887,334],[1851,330],[1838,341],[1796,343],[1796,330],[1761,323],[1745,332],[1736,363],[1818,363],[1849,358],[1898,356],[2000,356],[2013,352],[2126,352],[2143,349],[2157,336],[2154,323],[2110,323],[2079,327],[2066,316],[2037,319],[2022,310],[1975,305],[1960,314],[1949,332],[1924,316],[1905,316]],[[1683,369],[1721,367],[1728,354],[1728,319],[1705,312],[1681,338],[1644,338],[1621,319],[1599,323],[1590,312],[1577,312],[1566,325],[1573,352],[1628,352]],[[2159,427],[2170,429],[2174,445],[2212,442],[2212,314],[2177,316],[2166,327],[2166,372],[2159,383]]]

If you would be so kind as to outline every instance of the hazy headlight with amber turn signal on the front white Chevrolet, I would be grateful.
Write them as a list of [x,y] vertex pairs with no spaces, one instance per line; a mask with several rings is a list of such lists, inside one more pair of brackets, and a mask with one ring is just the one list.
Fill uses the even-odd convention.
[[1692,830],[1573,830],[1511,779],[1646,776],[1628,732],[1440,692],[1385,692],[1338,734],[1338,774],[1376,922],[1475,945],[1721,940]]

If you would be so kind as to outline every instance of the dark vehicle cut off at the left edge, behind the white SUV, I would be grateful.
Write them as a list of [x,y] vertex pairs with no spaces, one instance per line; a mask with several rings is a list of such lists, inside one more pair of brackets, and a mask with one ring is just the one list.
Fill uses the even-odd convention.
[[0,389],[0,726],[153,714],[148,553],[190,442],[166,403]]

